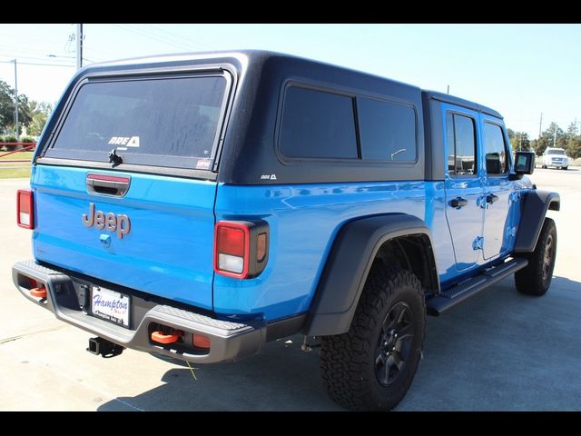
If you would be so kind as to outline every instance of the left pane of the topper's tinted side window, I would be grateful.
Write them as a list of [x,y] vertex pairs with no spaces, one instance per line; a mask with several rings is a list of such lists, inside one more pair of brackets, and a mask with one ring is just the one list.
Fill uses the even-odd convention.
[[353,99],[296,86],[287,88],[280,147],[288,157],[357,159]]

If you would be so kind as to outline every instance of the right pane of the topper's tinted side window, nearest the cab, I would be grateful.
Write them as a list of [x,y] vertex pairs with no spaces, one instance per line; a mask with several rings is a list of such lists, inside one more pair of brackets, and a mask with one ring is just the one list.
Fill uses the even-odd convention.
[[358,98],[358,115],[362,159],[416,160],[416,114],[413,108]]

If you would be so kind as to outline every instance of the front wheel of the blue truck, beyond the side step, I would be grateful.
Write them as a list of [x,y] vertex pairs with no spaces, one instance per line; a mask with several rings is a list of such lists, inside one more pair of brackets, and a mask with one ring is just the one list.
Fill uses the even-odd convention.
[[535,251],[527,256],[526,268],[515,273],[518,292],[527,295],[543,295],[553,280],[556,259],[556,226],[550,218],[545,218]]

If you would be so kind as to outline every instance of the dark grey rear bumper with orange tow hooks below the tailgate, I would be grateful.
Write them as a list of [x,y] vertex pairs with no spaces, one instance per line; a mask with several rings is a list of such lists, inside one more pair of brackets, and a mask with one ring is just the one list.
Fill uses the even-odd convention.
[[[166,304],[156,304],[132,295],[132,325],[130,329],[103,321],[84,312],[84,289],[91,282],[51,268],[26,261],[15,263],[12,276],[18,290],[29,300],[53,312],[56,318],[87,332],[115,342],[125,348],[142,352],[157,352],[168,357],[197,363],[231,362],[261,351],[266,342],[266,326],[213,319],[201,313],[189,312]],[[46,298],[30,294],[28,279],[46,288]],[[85,304],[86,305],[86,304]],[[189,344],[162,345],[150,339],[152,325],[161,324],[210,338],[209,350],[195,349]],[[184,341],[185,342],[185,341]]]

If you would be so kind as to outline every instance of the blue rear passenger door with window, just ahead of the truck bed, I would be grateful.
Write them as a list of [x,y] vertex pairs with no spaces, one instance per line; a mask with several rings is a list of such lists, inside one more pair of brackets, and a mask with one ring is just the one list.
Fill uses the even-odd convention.
[[454,245],[456,267],[465,270],[478,261],[484,210],[478,167],[478,113],[444,106],[448,165],[445,173],[446,217]]

